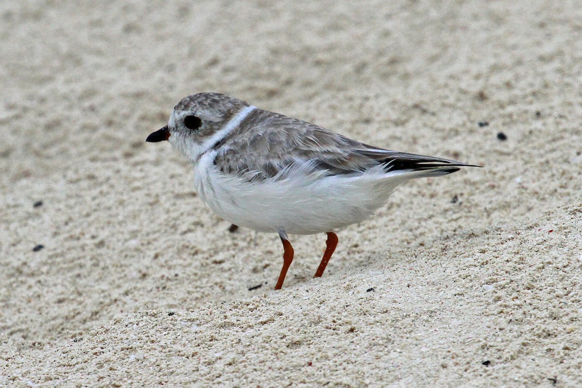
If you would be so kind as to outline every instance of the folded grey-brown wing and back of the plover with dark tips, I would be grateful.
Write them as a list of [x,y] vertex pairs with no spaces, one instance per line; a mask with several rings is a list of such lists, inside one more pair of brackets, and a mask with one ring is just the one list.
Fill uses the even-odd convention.
[[[330,130],[278,113],[256,109],[221,142],[215,159],[223,173],[272,179],[294,165],[310,165],[324,175],[357,175],[383,165],[396,170],[435,170],[434,175],[470,166],[449,159],[372,147]],[[440,170],[437,174],[436,170]],[[427,175],[423,175],[427,176]]]

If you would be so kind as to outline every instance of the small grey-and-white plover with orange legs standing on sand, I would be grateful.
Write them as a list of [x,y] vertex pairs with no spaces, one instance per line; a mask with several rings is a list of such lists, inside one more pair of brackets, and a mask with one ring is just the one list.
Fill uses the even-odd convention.
[[194,166],[200,198],[223,219],[279,233],[283,268],[293,261],[287,234],[327,233],[320,277],[336,245],[335,230],[369,218],[400,183],[472,166],[388,151],[218,93],[178,102],[168,125],[146,141],[168,140]]

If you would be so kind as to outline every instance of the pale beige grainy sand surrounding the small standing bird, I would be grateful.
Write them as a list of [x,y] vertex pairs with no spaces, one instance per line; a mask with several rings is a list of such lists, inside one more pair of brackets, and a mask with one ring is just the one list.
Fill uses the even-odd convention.
[[[5,1],[0,20],[0,386],[582,386],[579,2]],[[229,233],[144,142],[201,91],[484,168],[400,187],[321,279],[325,235],[290,236],[273,291],[278,236]]]

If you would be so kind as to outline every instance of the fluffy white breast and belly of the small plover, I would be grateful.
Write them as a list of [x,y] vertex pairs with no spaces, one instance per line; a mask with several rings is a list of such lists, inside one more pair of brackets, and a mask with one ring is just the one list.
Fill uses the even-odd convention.
[[194,166],[198,195],[223,219],[258,232],[313,234],[361,222],[407,180],[372,169],[352,177],[297,171],[283,179],[249,182],[219,172],[213,154]]

